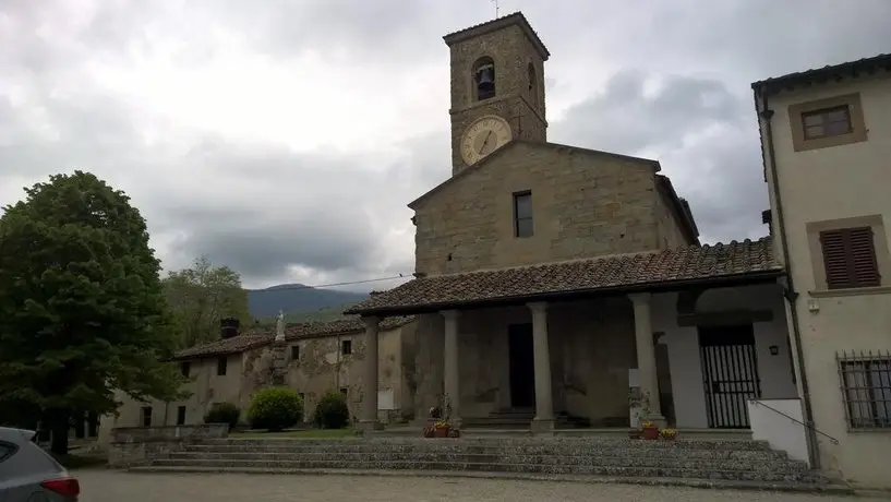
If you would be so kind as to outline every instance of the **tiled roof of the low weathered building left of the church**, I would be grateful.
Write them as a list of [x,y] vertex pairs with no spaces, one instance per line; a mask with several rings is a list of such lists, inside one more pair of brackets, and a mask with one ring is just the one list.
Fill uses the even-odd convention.
[[[395,330],[396,327],[411,322],[413,319],[414,318],[411,315],[387,318],[381,322],[381,331]],[[358,316],[330,322],[288,324],[285,326],[285,339],[290,342],[302,338],[359,333],[364,328],[365,326],[362,323],[362,320]],[[240,354],[252,348],[268,345],[274,338],[274,327],[253,328],[244,333],[240,333],[231,338],[217,339],[207,344],[180,350],[176,354],[176,356],[173,356],[173,360],[201,359],[205,357],[225,356],[228,354]]]

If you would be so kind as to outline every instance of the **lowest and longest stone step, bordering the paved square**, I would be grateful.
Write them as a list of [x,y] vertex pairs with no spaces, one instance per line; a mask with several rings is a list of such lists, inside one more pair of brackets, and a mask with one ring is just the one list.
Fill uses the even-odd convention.
[[758,490],[783,491],[793,493],[820,493],[852,495],[854,490],[845,485],[823,485],[787,481],[735,481],[696,478],[640,478],[631,476],[577,476],[577,475],[541,475],[527,473],[484,473],[484,471],[447,471],[447,470],[382,470],[382,469],[285,469],[270,467],[197,467],[197,466],[142,466],[131,467],[131,473],[194,473],[194,474],[266,474],[266,475],[303,475],[303,476],[374,476],[374,477],[424,477],[424,478],[466,478],[466,479],[502,479],[529,481],[563,481],[586,485],[624,483],[651,487],[687,487],[722,490]]

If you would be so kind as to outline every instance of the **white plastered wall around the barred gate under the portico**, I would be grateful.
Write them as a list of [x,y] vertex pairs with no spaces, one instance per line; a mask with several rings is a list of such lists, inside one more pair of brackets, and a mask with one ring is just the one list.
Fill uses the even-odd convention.
[[[752,325],[762,398],[797,398],[783,301],[778,285],[758,285],[710,290],[697,302],[700,313],[747,309],[773,311],[773,321]],[[706,429],[709,423],[697,328],[677,325],[677,294],[655,295],[652,314],[653,331],[665,334],[660,343],[667,345],[669,349],[677,427]],[[779,348],[776,356],[770,354],[773,345]]]

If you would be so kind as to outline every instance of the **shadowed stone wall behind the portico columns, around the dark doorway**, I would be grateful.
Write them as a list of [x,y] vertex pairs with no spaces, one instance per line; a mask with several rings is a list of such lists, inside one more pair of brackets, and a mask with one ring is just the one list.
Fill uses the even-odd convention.
[[[418,366],[426,368],[418,375],[419,418],[442,395],[441,319],[421,316],[418,325]],[[508,325],[531,322],[526,307],[461,313],[458,361],[463,417],[485,417],[511,406]],[[587,418],[594,426],[627,422],[628,369],[637,367],[630,301],[617,297],[553,303],[547,326],[555,410]]]

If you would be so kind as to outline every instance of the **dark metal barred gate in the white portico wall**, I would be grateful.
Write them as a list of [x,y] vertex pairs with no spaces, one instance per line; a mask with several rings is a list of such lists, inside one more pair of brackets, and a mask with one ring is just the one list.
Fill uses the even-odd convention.
[[761,395],[751,324],[699,327],[709,428],[748,429],[748,399]]

